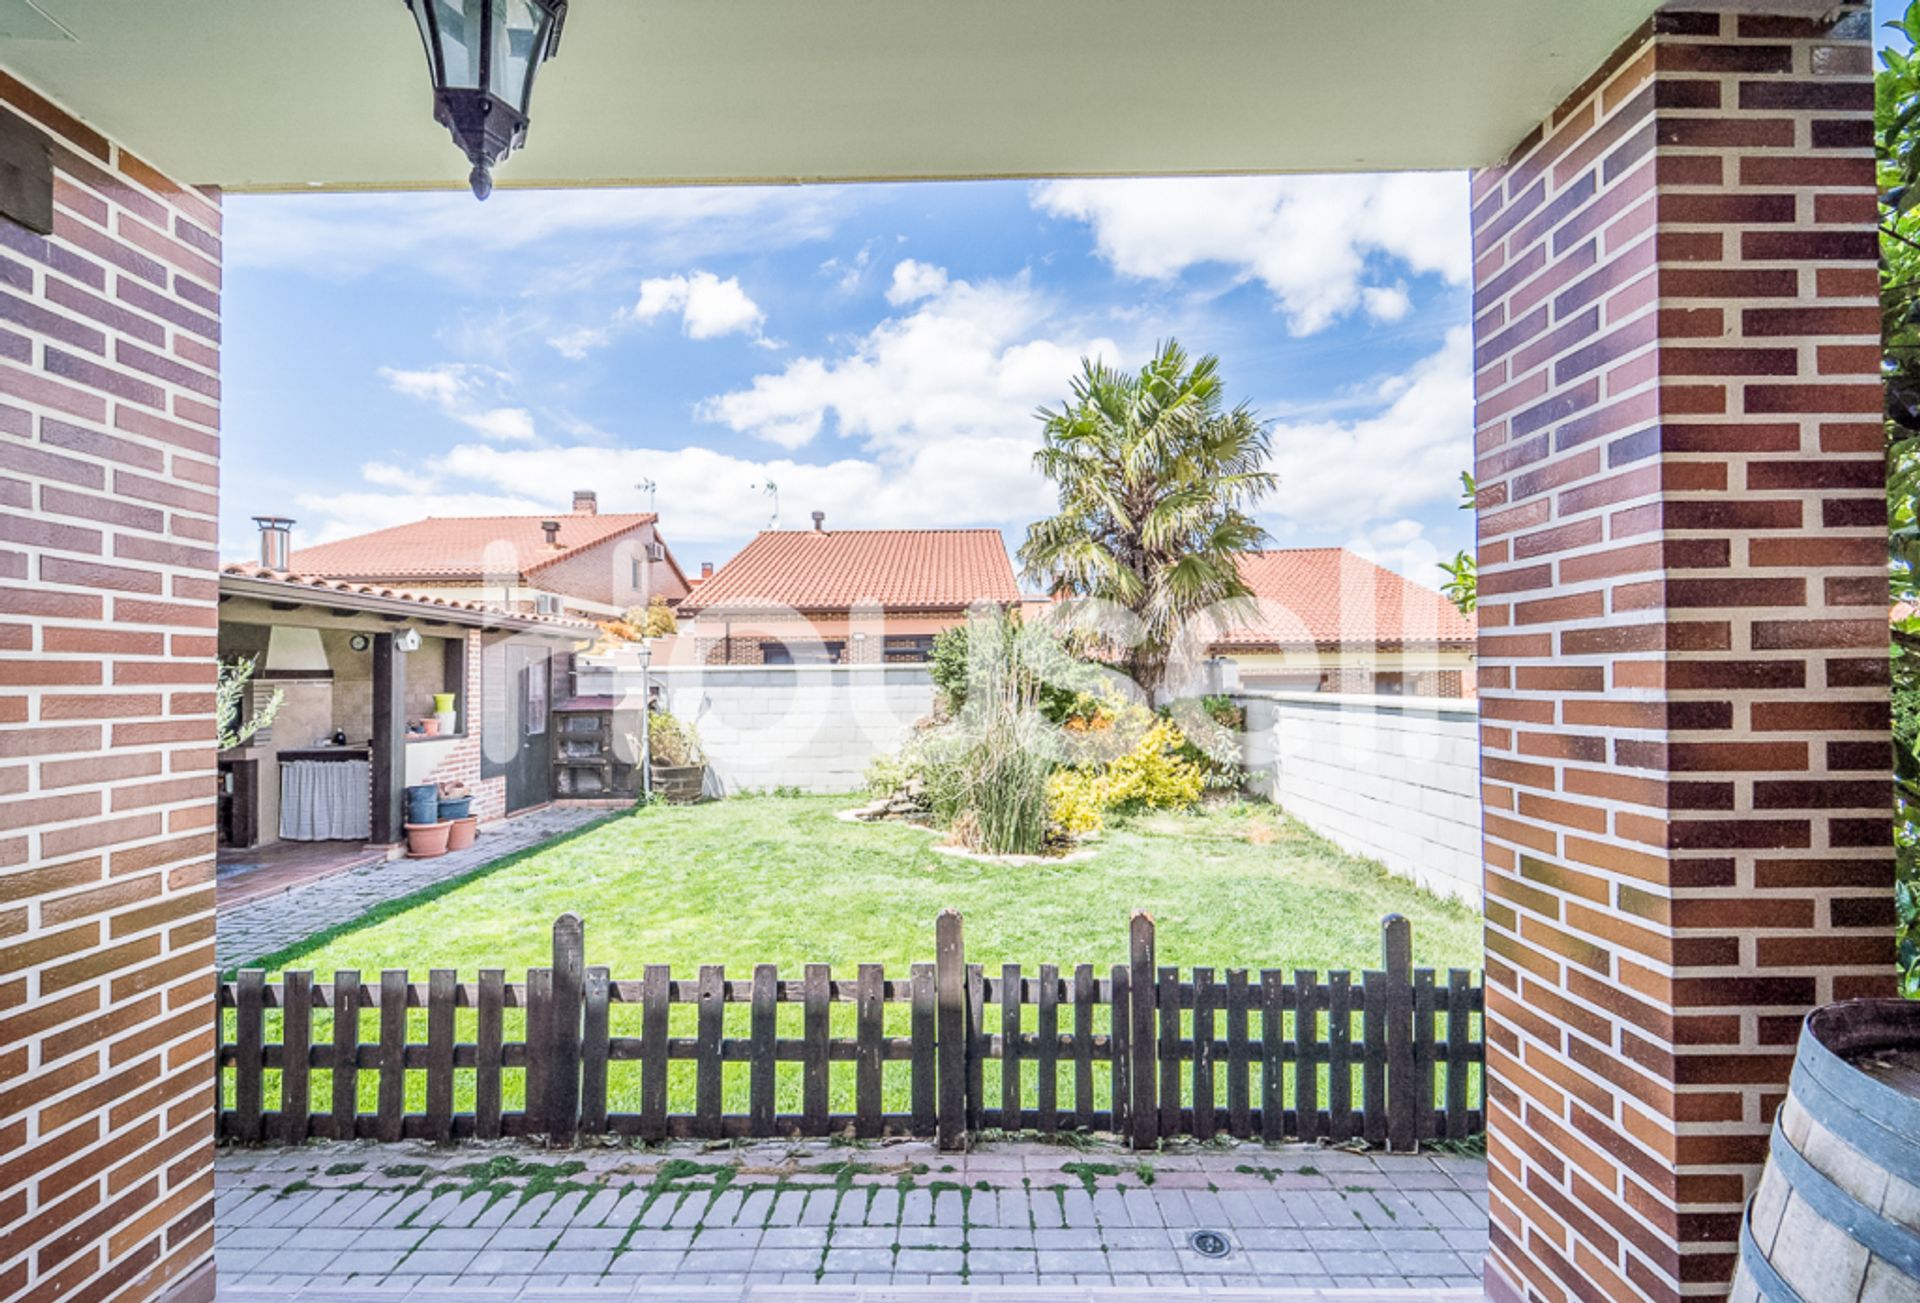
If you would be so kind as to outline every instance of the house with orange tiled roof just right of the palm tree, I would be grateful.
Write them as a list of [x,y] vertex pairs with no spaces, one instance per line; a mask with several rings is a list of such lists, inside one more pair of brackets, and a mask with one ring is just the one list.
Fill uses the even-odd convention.
[[1344,547],[1248,553],[1258,616],[1208,654],[1242,687],[1380,697],[1473,697],[1475,622],[1434,589]]

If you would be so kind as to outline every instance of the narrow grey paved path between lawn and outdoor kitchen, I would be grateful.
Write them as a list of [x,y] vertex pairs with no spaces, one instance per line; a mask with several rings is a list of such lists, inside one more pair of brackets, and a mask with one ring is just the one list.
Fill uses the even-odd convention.
[[468,850],[455,850],[436,860],[371,864],[278,896],[248,900],[234,908],[223,906],[217,913],[215,961],[221,969],[250,963],[328,927],[351,923],[388,900],[472,873],[607,814],[607,810],[536,810],[516,819],[490,823]]

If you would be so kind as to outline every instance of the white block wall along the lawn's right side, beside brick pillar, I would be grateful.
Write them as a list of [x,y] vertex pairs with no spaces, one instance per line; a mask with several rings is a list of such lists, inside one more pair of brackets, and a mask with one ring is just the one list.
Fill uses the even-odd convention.
[[1471,700],[1235,693],[1254,791],[1331,842],[1480,908],[1480,745]]

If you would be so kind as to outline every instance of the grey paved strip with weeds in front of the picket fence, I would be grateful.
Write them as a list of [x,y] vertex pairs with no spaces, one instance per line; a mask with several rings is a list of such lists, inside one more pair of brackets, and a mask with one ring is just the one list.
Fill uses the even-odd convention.
[[[1482,1159],[1309,1146],[1139,1161],[1041,1144],[960,1157],[920,1142],[572,1153],[328,1142],[227,1149],[217,1171],[221,1299],[234,1303],[785,1299],[783,1286],[847,1286],[806,1291],[810,1303],[877,1303],[902,1286],[970,1286],[910,1297],[981,1303],[1246,1288],[1459,1299],[1478,1297],[1486,1249]],[[1215,1232],[1225,1257],[1202,1255],[1196,1230]]]

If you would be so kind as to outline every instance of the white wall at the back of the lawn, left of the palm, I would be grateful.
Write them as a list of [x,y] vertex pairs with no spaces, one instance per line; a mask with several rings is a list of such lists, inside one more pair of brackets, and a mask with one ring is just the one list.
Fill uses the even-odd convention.
[[[674,666],[653,668],[649,679],[660,706],[699,729],[716,796],[856,791],[874,756],[899,750],[933,712],[925,666]],[[582,658],[576,691],[637,706],[639,664]]]

